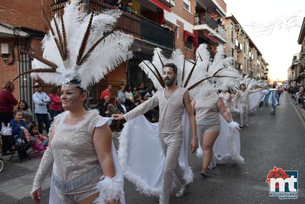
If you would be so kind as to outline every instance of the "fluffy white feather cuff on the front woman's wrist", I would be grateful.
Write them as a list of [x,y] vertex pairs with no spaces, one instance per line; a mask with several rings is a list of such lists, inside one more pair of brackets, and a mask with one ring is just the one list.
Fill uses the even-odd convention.
[[101,180],[97,184],[97,189],[100,194],[95,200],[96,204],[105,204],[106,200],[115,201],[119,200],[122,202],[124,199],[124,189],[121,184],[116,183],[110,177],[101,177]]

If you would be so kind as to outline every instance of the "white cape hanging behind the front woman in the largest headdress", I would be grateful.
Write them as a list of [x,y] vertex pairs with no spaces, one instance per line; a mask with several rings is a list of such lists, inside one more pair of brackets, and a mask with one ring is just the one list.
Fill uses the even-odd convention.
[[[115,177],[112,178],[112,181],[119,184],[124,189],[124,177],[123,177],[121,168],[119,166],[119,162],[118,162],[118,158],[117,158],[117,155],[115,152],[115,147],[114,147],[113,142],[112,142],[111,151],[112,151],[112,160],[113,160],[114,168],[115,168]],[[124,196],[121,197],[120,201],[121,201],[121,204],[126,204]],[[97,203],[103,204],[105,202],[104,202],[104,200],[99,199]],[[51,182],[49,204],[57,204],[55,186],[54,186],[53,182]]]

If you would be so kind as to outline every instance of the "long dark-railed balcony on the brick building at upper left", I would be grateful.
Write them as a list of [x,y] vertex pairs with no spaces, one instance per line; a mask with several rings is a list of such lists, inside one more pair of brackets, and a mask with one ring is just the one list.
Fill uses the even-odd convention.
[[[60,1],[67,2],[67,1]],[[55,3],[51,5],[52,13],[62,12],[65,3]],[[122,15],[116,23],[115,30],[123,31],[126,34],[131,34],[136,39],[142,42],[155,44],[155,46],[163,46],[165,48],[174,49],[174,32],[167,28],[150,21],[144,17],[132,14],[125,9],[118,8],[108,2],[102,0],[90,0],[88,3],[88,13],[101,12],[107,9],[120,9]]]

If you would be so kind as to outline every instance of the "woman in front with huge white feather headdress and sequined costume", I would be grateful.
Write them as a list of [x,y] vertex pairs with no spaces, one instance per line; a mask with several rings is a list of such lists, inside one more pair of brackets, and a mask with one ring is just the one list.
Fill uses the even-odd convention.
[[72,0],[64,15],[46,19],[50,32],[43,39],[43,57],[18,48],[35,60],[33,73],[45,83],[61,85],[64,113],[54,119],[49,147],[36,173],[32,199],[41,201],[41,186],[52,174],[49,203],[125,203],[124,179],[112,143],[110,118],[87,110],[90,85],[130,59],[130,35],[112,32],[121,12],[84,14]]

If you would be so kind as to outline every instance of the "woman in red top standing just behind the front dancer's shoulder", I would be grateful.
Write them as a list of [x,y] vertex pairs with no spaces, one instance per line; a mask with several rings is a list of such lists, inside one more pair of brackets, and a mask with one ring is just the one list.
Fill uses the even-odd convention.
[[51,115],[51,120],[54,120],[54,117],[59,113],[62,113],[62,101],[60,101],[60,88],[58,86],[53,86],[49,98],[51,100],[49,105],[49,113]]

